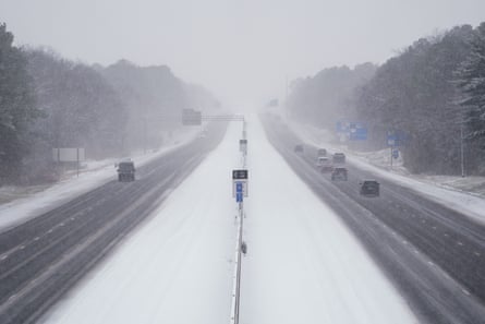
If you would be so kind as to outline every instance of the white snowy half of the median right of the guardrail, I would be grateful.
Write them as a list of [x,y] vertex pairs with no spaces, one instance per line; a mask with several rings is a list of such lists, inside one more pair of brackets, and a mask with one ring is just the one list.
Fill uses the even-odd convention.
[[248,125],[241,323],[416,323],[360,243]]

